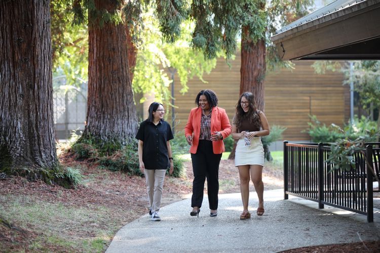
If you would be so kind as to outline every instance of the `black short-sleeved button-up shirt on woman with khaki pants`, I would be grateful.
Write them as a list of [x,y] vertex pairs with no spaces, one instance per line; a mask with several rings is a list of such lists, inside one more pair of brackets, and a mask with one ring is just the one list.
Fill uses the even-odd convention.
[[136,139],[144,142],[142,161],[147,170],[166,170],[170,167],[166,142],[174,137],[168,122],[160,120],[155,125],[147,120],[142,121]]

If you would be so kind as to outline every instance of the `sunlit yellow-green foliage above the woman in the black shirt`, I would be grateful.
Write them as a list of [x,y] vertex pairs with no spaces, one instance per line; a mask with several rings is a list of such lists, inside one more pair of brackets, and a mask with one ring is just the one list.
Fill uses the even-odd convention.
[[[158,22],[151,11],[142,14],[145,29],[141,31],[137,44],[137,59],[134,69],[132,88],[135,93],[153,93],[158,102],[170,101],[169,86],[172,83],[168,70],[178,74],[181,93],[188,90],[187,80],[197,76],[202,81],[203,74],[210,73],[216,66],[216,60],[206,61],[200,52],[189,47],[189,30],[194,27],[190,22],[183,23],[181,35],[175,43],[164,42],[158,30]],[[177,84],[176,84],[177,85]],[[143,102],[143,98],[139,102]]]

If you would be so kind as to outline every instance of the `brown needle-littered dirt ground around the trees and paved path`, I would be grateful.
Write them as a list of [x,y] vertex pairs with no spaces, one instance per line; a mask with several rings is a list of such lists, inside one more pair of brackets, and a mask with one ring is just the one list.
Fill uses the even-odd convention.
[[[97,166],[87,166],[85,161],[74,161],[69,156],[62,156],[61,162],[67,166],[81,166],[85,175],[85,186],[78,189],[64,189],[59,186],[46,185],[43,182],[28,182],[24,178],[12,177],[0,180],[0,196],[24,196],[32,198],[33,201],[44,201],[61,204],[67,208],[86,207],[96,209],[104,206],[112,212],[99,217],[94,223],[86,224],[86,229],[74,228],[64,229],[66,222],[57,221],[62,224],[62,228],[57,230],[62,238],[77,240],[80,238],[94,238],[99,229],[108,229],[110,224],[113,226],[115,234],[125,224],[141,217],[147,213],[147,200],[144,178],[128,176],[119,172],[102,170]],[[162,205],[167,205],[191,196],[192,189],[192,166],[187,161],[184,164],[186,175],[183,178],[167,177],[164,184],[164,197]],[[278,166],[268,163],[263,169],[263,182],[265,189],[279,189],[283,187],[282,171]],[[239,192],[239,175],[233,165],[232,160],[221,160],[219,168],[219,193]],[[251,186],[253,190],[253,186]],[[3,201],[3,202],[2,202]],[[26,203],[27,204],[27,203]],[[0,198],[0,205],[9,207]],[[191,207],[189,207],[190,209]],[[2,210],[0,208],[0,210]],[[0,213],[0,251],[34,251],[30,250],[30,245],[36,238],[41,238],[47,233],[38,226],[30,226],[17,219],[5,221]],[[81,225],[83,226],[83,224]],[[112,237],[105,239],[103,250],[109,245]],[[78,248],[70,246],[58,246],[54,242],[39,242],[40,249],[44,251],[72,252]],[[334,244],[304,247],[288,250],[286,252],[375,252],[379,251],[379,242],[363,242],[350,244]]]

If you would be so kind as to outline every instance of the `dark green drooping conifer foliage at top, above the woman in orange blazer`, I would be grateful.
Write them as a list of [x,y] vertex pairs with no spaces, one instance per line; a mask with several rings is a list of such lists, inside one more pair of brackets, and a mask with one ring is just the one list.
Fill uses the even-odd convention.
[[[223,51],[230,59],[236,51],[239,35],[253,42],[265,37],[267,14],[264,1],[193,1],[191,18],[196,26],[192,45],[213,59]],[[242,27],[247,29],[241,34]]]

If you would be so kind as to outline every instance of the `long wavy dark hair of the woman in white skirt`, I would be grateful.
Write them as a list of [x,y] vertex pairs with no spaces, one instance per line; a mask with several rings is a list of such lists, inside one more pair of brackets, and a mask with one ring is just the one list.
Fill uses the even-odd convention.
[[[247,101],[249,102],[248,112],[244,112],[243,107],[240,104],[243,97],[245,97]],[[233,122],[239,131],[240,131],[242,122],[245,119],[248,119],[249,123],[253,124],[256,129],[260,129],[260,126],[261,126],[260,115],[258,114],[258,111],[257,111],[255,97],[250,92],[243,93],[240,96],[238,103],[236,104],[236,113],[235,113]]]

